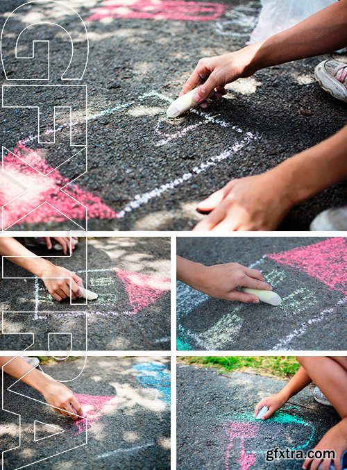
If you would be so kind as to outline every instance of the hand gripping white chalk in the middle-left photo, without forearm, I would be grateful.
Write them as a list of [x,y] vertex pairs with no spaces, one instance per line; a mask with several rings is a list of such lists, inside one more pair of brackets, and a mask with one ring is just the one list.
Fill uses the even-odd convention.
[[78,285],[81,285],[82,287],[83,280],[74,272],[69,271],[69,269],[49,263],[48,265],[45,265],[38,277],[42,278],[49,294],[51,294],[57,301],[67,299],[70,296],[70,282],[71,299],[76,300],[78,297],[82,296]]

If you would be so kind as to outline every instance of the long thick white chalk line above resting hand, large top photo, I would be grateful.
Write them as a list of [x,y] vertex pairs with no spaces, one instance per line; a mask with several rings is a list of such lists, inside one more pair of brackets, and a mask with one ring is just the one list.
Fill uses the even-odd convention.
[[224,150],[219,155],[209,158],[208,160],[206,160],[205,162],[202,162],[197,167],[193,167],[189,172],[183,174],[182,176],[179,176],[178,178],[174,180],[168,181],[167,183],[162,184],[160,187],[155,187],[153,190],[149,192],[137,194],[135,198],[133,199],[133,201],[130,201],[130,203],[126,204],[124,208],[118,212],[117,218],[122,219],[126,215],[126,213],[132,212],[134,209],[137,209],[141,205],[144,205],[148,203],[149,201],[151,201],[151,199],[158,198],[164,192],[167,192],[168,190],[173,190],[175,187],[193,178],[193,176],[196,176],[200,174],[202,171],[210,169],[210,167],[214,167],[218,163],[222,162],[223,160],[230,158],[230,156],[239,152],[241,149],[244,148],[246,144],[249,144],[249,142],[251,142],[255,138],[256,137],[255,135],[253,135],[253,133],[248,132],[246,133],[246,136],[244,137],[244,139],[242,139],[241,142],[235,142],[235,144],[233,144],[228,149]]

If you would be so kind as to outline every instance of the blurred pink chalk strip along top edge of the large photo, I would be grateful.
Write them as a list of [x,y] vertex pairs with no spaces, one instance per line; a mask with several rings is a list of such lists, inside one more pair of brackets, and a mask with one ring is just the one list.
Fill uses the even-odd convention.
[[208,22],[221,17],[226,11],[222,3],[178,0],[112,0],[94,8],[88,21],[103,18],[171,19],[178,21]]

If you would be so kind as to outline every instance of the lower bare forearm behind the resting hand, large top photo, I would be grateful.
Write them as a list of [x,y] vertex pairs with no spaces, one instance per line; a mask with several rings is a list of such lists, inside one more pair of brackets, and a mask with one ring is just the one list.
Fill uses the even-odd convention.
[[294,205],[347,177],[347,126],[270,170],[289,181]]

